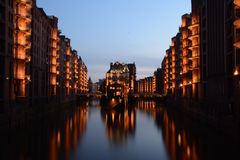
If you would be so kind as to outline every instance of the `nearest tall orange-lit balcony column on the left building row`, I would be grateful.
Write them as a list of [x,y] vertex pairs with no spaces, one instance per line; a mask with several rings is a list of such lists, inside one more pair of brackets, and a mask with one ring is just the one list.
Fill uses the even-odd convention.
[[14,46],[13,46],[13,100],[26,98],[27,85],[31,81],[32,0],[13,1]]

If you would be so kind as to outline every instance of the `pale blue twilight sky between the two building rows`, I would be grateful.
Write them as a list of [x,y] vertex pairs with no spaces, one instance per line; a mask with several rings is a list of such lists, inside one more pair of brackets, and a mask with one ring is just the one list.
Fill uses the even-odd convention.
[[38,0],[38,7],[59,18],[93,81],[105,78],[110,62],[135,62],[137,78],[160,67],[181,16],[191,0]]

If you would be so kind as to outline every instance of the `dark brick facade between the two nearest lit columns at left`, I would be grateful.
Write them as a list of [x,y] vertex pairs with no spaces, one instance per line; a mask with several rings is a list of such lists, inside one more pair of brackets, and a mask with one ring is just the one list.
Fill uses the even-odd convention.
[[42,105],[50,97],[50,74],[53,73],[52,65],[56,64],[56,59],[52,58],[52,30],[57,27],[57,18],[47,16],[42,8],[35,5],[32,16],[29,100],[31,105]]

